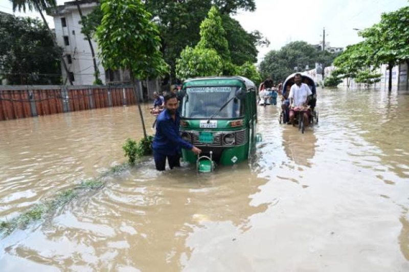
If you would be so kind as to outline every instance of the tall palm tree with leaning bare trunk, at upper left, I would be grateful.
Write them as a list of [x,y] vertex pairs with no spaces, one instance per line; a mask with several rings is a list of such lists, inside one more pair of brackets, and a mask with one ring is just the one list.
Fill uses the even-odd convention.
[[[22,10],[26,12],[26,7],[28,8],[29,11],[32,11],[32,10],[38,11],[42,18],[42,22],[44,23],[44,26],[46,26],[48,33],[53,40],[54,45],[58,46],[55,36],[51,32],[51,29],[47,23],[47,20],[44,17],[44,14],[42,13],[43,10],[47,10],[49,8],[56,7],[55,0],[10,0],[10,2],[13,4],[13,11]],[[64,68],[64,71],[66,72],[66,75],[68,75],[69,70],[67,68],[64,58],[62,57],[62,51],[61,51],[60,61],[62,63],[62,67]],[[67,79],[69,80],[70,84],[73,85],[71,78],[67,76]]]

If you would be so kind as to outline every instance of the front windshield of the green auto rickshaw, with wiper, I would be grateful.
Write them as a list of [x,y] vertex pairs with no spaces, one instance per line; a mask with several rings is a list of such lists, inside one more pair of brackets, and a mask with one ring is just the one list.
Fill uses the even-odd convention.
[[217,87],[188,87],[181,101],[181,117],[184,118],[209,118],[217,113],[229,100],[218,114],[217,118],[238,118],[244,116],[244,100],[235,97],[236,86]]

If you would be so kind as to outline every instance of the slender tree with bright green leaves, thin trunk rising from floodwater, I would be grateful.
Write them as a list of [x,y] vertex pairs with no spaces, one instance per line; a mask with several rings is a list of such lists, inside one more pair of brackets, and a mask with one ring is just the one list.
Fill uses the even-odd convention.
[[[167,64],[160,52],[161,39],[152,15],[140,0],[105,0],[96,36],[101,48],[102,64],[109,69],[127,69],[138,99],[135,78],[146,79],[163,75]],[[142,84],[140,89],[142,89]],[[147,137],[141,105],[138,103],[142,128]]]

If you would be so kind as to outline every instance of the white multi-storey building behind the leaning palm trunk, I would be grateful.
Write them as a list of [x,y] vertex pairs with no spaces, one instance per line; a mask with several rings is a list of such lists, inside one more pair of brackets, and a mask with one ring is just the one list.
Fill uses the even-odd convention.
[[[85,16],[98,5],[96,0],[80,0],[82,15]],[[94,77],[94,63],[88,41],[81,33],[81,24],[76,2],[65,2],[64,5],[47,11],[48,15],[54,17],[55,34],[57,43],[64,50],[63,56],[68,66],[69,76],[74,85],[92,85]],[[105,84],[105,70],[98,59],[97,43],[91,41],[94,46],[97,65],[100,72],[99,78]],[[65,69],[61,67],[62,80],[69,84]]]

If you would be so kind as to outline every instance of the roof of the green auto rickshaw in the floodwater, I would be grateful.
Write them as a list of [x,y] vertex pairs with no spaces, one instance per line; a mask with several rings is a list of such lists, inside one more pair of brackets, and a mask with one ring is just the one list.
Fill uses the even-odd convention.
[[253,81],[244,77],[201,77],[188,79],[184,83],[184,88],[193,86],[237,86],[242,87],[243,84],[247,90],[256,91],[256,85]]

